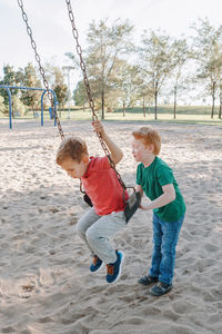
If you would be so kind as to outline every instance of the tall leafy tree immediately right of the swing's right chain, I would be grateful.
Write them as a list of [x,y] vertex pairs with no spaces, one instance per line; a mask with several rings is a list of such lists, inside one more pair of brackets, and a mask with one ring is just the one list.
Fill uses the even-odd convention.
[[104,118],[105,95],[112,89],[112,77],[120,56],[132,48],[130,35],[133,27],[129,21],[117,20],[111,27],[107,20],[99,24],[93,21],[88,31],[87,68],[94,98],[101,99],[102,119]]

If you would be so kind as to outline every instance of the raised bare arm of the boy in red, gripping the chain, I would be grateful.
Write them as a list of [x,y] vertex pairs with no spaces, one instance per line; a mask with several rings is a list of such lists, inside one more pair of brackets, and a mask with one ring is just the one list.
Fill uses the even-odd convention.
[[102,124],[97,120],[92,124],[92,126],[94,127],[95,132],[99,132],[102,137],[102,139],[104,140],[104,143],[107,144],[109,150],[110,150],[110,157],[112,159],[112,161],[117,165],[118,163],[120,163],[120,160],[123,157],[123,153],[122,150],[112,141],[112,139],[105,134],[104,128],[102,126]]

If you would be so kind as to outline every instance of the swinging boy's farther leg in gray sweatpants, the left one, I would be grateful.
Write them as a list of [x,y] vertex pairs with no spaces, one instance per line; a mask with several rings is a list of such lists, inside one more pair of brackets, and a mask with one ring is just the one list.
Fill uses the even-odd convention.
[[87,230],[90,226],[92,226],[98,219],[100,219],[100,216],[95,214],[93,208],[90,208],[78,222],[77,224],[77,232],[80,236],[80,238],[87,244],[88,248],[90,249],[90,253],[92,256],[97,255],[94,250],[90,247],[88,240],[87,240]]

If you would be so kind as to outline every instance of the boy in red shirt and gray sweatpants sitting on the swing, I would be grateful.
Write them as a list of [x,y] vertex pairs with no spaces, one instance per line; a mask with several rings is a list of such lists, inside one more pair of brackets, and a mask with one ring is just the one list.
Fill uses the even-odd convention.
[[[117,165],[123,157],[122,150],[105,134],[102,124],[93,122],[110,150]],[[110,238],[125,226],[123,188],[111,168],[109,159],[90,157],[85,143],[75,137],[64,139],[57,153],[57,164],[72,178],[80,178],[93,207],[78,222],[77,230],[93,257],[91,272],[107,264],[107,282],[115,282],[121,273],[123,253],[113,249]],[[128,199],[125,191],[124,198]]]

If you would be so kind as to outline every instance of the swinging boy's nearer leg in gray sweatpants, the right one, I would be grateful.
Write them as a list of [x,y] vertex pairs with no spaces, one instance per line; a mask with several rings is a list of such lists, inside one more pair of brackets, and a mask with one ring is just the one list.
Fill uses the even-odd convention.
[[105,264],[117,261],[115,249],[111,246],[110,238],[124,226],[124,213],[120,212],[101,217],[87,230],[90,247]]

